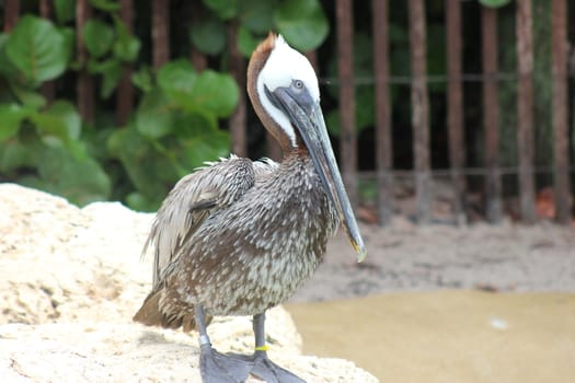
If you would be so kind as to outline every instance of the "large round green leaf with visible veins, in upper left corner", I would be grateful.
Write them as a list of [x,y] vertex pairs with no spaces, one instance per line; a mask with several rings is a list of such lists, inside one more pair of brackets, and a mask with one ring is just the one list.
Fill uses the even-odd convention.
[[37,86],[64,73],[70,58],[68,39],[50,22],[24,15],[5,43],[5,53],[26,81]]

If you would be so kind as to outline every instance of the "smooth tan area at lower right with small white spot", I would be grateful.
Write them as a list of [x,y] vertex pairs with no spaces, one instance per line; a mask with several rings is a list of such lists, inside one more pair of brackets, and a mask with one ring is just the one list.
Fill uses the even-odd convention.
[[382,382],[575,382],[575,294],[467,290],[288,304],[304,353]]

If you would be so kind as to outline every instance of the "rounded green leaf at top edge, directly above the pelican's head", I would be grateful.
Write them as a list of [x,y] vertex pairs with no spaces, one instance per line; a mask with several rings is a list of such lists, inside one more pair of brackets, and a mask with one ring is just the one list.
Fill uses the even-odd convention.
[[308,51],[319,47],[330,26],[318,0],[286,0],[274,14],[277,28],[296,49]]

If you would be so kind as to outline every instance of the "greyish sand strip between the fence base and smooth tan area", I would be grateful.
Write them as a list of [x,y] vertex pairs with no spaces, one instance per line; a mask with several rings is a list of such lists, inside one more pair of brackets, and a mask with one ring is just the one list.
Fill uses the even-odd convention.
[[361,224],[363,264],[345,235],[291,302],[437,289],[575,292],[575,230],[549,222],[465,228],[417,227],[396,218],[389,228]]

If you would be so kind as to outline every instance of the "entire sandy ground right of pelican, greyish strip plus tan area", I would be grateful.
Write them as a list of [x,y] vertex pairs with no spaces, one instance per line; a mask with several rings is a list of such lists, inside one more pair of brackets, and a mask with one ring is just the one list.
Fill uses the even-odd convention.
[[573,381],[574,229],[398,218],[361,231],[367,260],[340,233],[287,305],[304,352],[381,382]]

